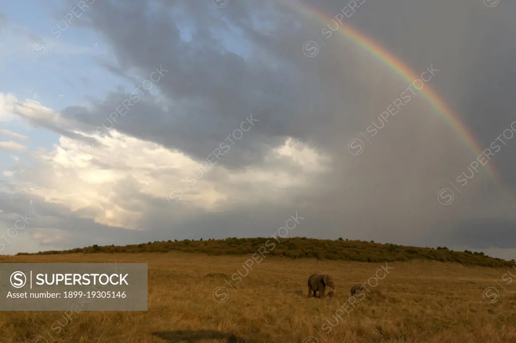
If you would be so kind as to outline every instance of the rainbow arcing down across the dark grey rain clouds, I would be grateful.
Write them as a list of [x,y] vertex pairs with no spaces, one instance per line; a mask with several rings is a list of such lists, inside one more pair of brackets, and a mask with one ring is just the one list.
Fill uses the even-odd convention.
[[[334,20],[334,16],[332,17],[313,7],[310,7],[306,4],[302,4],[295,0],[282,0],[281,3],[286,4],[288,7],[307,16],[309,19],[315,18],[316,20],[321,22],[322,25],[327,25],[329,22]],[[358,11],[360,11],[360,9],[357,9],[357,12]],[[388,50],[383,48],[379,43],[375,42],[372,38],[367,37],[364,33],[360,32],[358,29],[352,27],[344,21],[342,23],[335,21],[332,27],[337,23],[337,32],[340,32],[343,36],[367,50],[369,53],[374,55],[385,65],[389,66],[394,72],[396,72],[402,78],[406,79],[410,83],[420,78],[420,76],[413,70],[411,70],[411,68],[408,67],[404,62],[402,62],[399,58],[394,56],[394,54],[390,53]],[[425,87],[423,87],[420,90],[420,92],[423,93],[424,97],[428,100],[430,105],[438,113],[444,116],[447,122],[449,122],[449,124],[459,133],[462,141],[475,154],[475,158],[477,156],[480,156],[485,148],[482,148],[477,143],[474,136],[467,129],[467,126],[464,125],[461,122],[459,116],[455,114],[454,111],[451,110],[448,105],[446,105],[446,102],[439,96],[439,94],[436,91],[434,91],[429,84],[425,84]],[[488,170],[488,173],[494,178],[494,181],[497,181],[499,183],[500,178],[493,167],[493,163],[487,163],[486,168]]]

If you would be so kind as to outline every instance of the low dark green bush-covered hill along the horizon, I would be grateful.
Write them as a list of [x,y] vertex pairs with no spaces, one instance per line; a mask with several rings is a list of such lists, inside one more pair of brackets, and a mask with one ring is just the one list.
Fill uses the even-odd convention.
[[[265,256],[282,256],[291,259],[315,258],[319,260],[344,260],[357,262],[395,262],[411,260],[432,260],[440,262],[456,262],[463,265],[483,267],[511,267],[514,260],[505,261],[492,258],[483,252],[453,251],[446,247],[422,248],[396,244],[379,244],[365,241],[348,241],[338,238],[314,239],[306,237],[293,238],[226,238],[203,241],[155,241],[138,245],[98,246],[76,248],[63,251],[42,251],[36,254],[67,253],[141,253],[182,251],[205,253],[208,255],[249,255],[256,253]],[[32,255],[32,253],[18,253]]]

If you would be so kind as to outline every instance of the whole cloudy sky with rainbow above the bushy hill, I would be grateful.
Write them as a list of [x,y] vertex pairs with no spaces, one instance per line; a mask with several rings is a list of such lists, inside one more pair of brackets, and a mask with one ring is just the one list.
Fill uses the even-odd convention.
[[268,237],[297,215],[289,237],[514,259],[514,14],[7,2],[0,254]]

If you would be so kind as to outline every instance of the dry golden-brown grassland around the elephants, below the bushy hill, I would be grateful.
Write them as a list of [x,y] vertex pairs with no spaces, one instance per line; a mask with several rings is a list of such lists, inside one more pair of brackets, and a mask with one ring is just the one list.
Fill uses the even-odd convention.
[[[374,276],[385,263],[271,256],[254,264],[241,283],[233,284],[233,290],[224,278],[231,283],[237,270],[245,273],[242,265],[248,258],[175,252],[2,256],[0,263],[148,263],[149,311],[80,312],[71,314],[71,320],[62,312],[2,312],[0,341],[32,342],[39,335],[49,342],[77,343],[317,342],[305,340],[310,335],[319,343],[516,341],[516,282],[502,283],[507,292],[495,282],[501,282],[507,268],[430,261],[389,263],[394,267],[389,275],[370,288],[372,293],[349,314],[337,318],[338,324],[328,332],[328,320],[335,324],[332,316],[349,298],[350,288]],[[307,298],[306,283],[313,272],[334,277],[334,297]],[[516,270],[511,272],[515,275]],[[490,286],[497,287],[501,295],[494,304],[482,298]],[[214,300],[216,287],[229,289],[226,302]],[[59,334],[51,330],[56,321],[69,321]]]

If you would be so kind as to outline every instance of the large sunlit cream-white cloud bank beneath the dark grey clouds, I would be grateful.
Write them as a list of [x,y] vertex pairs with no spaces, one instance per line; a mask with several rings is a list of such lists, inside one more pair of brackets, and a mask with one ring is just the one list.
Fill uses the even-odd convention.
[[[94,149],[92,155],[82,155],[77,150],[77,141],[61,137],[60,145],[38,157],[39,178],[27,181],[33,187],[31,194],[58,203],[71,211],[89,210],[95,222],[106,226],[137,229],[139,219],[148,204],[134,200],[132,209],[117,205],[112,196],[124,180],[136,180],[135,194],[150,198],[162,198],[163,205],[171,188],[180,188],[180,181],[191,189],[185,191],[185,207],[202,211],[217,211],[224,201],[231,199],[240,203],[283,201],[281,190],[285,187],[302,186],[317,173],[325,171],[323,164],[328,159],[319,158],[315,150],[292,140],[270,152],[269,161],[276,167],[248,169],[230,173],[215,165],[204,171],[200,161],[192,160],[180,151],[169,150],[155,143],[142,141],[112,131],[99,141],[102,149]],[[288,147],[288,153],[278,153]],[[282,150],[283,149],[283,150]],[[281,170],[284,163],[298,164],[296,173]],[[201,175],[195,184],[185,181],[189,175]],[[211,175],[226,175],[227,183],[220,183]],[[237,190],[251,188],[256,192],[241,194]]]

